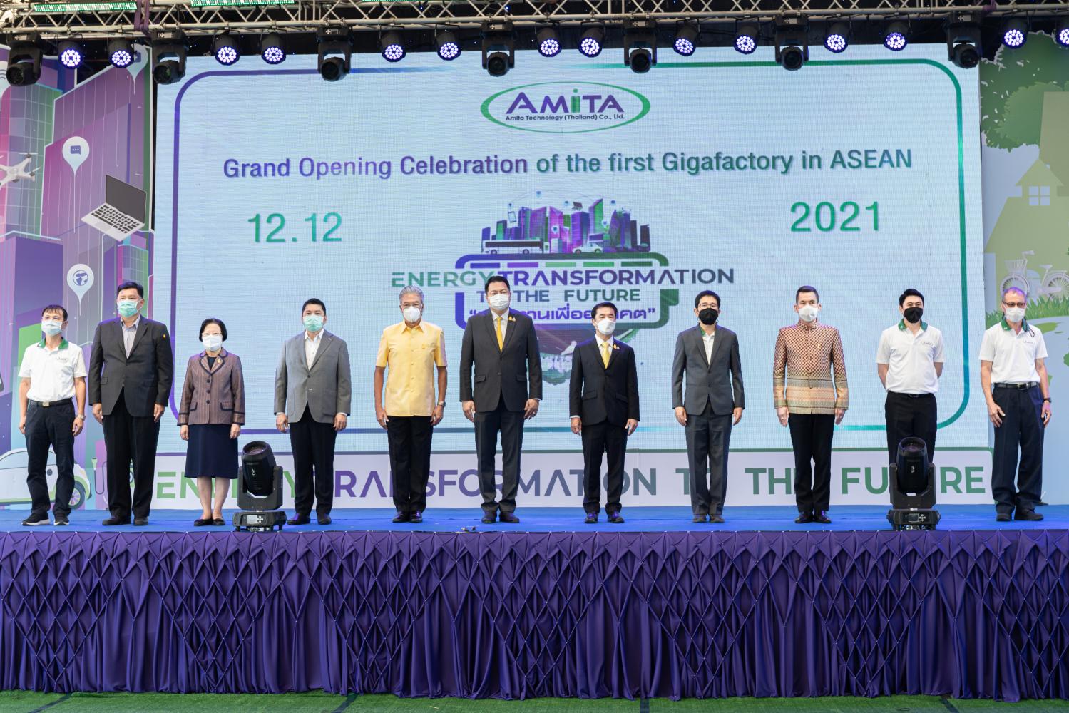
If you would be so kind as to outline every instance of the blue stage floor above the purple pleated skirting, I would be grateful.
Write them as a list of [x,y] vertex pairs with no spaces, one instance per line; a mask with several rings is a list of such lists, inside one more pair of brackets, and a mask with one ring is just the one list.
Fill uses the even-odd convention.
[[[1069,506],[1049,506],[1040,509],[1045,520],[1039,523],[1012,521],[996,523],[994,506],[943,506],[939,508],[943,516],[939,524],[940,530],[1064,530],[1069,529]],[[100,521],[108,516],[106,511],[78,510],[71,515],[71,525],[53,527],[42,525],[22,527],[20,525],[28,510],[0,511],[0,531],[136,531],[136,532],[220,532],[230,531],[229,525],[233,510],[227,510],[226,527],[193,527],[193,521],[200,516],[199,510],[155,510],[149,525],[134,527],[103,527]],[[292,515],[292,511],[288,514]],[[420,525],[394,525],[392,510],[386,509],[346,509],[335,510],[331,514],[331,525],[316,525],[314,518],[311,525],[285,527],[286,532],[324,532],[324,531],[369,531],[392,530],[400,532],[458,532],[463,527],[475,527],[483,532],[682,532],[682,531],[871,531],[889,530],[887,524],[887,506],[841,506],[830,512],[831,525],[795,525],[797,512],[789,506],[777,507],[739,507],[725,508],[724,525],[697,525],[691,522],[688,508],[625,508],[622,512],[626,522],[622,525],[609,525],[602,513],[597,525],[583,523],[584,513],[580,508],[521,508],[516,515],[522,521],[518,525],[483,525],[479,522],[481,512],[475,508],[456,510],[429,510],[423,515]]]

